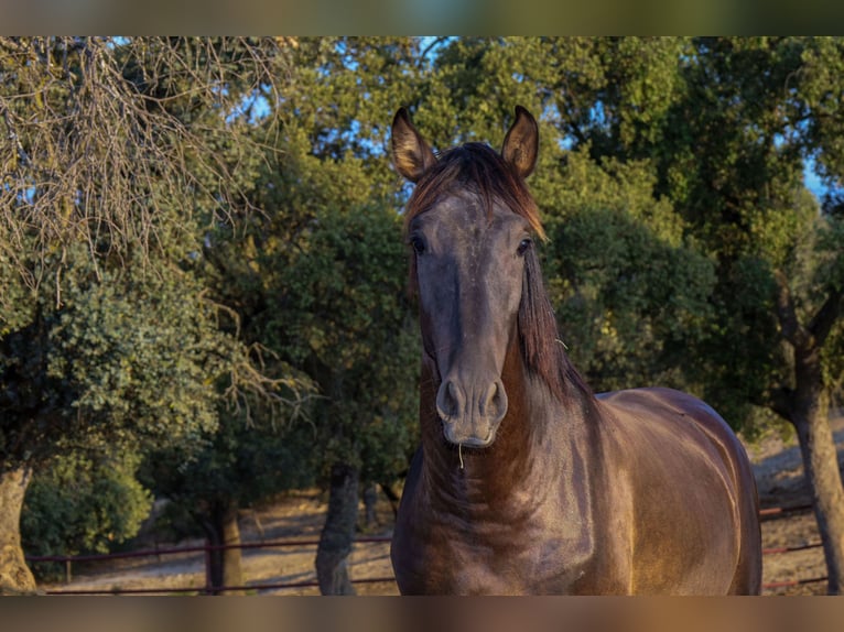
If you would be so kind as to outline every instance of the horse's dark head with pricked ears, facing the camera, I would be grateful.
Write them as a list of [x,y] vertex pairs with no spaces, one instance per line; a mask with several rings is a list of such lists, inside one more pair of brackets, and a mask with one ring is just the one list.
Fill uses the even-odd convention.
[[453,444],[490,445],[507,413],[505,359],[518,344],[532,240],[543,236],[523,183],[538,142],[521,107],[500,153],[468,143],[437,159],[405,110],[393,119],[394,165],[416,183],[407,235],[425,359],[441,380],[436,410]]

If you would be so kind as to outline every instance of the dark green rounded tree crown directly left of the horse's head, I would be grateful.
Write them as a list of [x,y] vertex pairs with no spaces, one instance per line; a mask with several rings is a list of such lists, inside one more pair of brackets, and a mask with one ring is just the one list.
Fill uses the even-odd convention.
[[279,270],[267,333],[324,397],[313,411],[320,469],[340,459],[394,476],[412,443],[419,363],[401,220],[378,205],[318,219]]

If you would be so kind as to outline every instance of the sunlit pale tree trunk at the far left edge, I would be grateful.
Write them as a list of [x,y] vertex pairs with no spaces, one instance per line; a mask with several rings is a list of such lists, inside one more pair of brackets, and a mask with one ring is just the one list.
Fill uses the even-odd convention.
[[21,548],[21,508],[31,473],[20,468],[0,475],[0,595],[26,595],[36,589]]

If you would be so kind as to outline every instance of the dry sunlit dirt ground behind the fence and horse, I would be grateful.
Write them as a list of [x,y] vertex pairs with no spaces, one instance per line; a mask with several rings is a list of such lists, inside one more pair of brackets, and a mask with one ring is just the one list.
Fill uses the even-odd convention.
[[[844,417],[833,421],[833,432],[840,446],[840,460],[844,460]],[[796,440],[783,442],[779,436],[768,436],[749,447],[754,461],[762,508],[793,506],[810,502],[809,489],[803,477],[799,448]],[[314,582],[313,544],[320,536],[325,514],[326,499],[317,491],[286,494],[269,506],[246,511],[240,516],[241,536],[245,543],[271,542],[295,538],[302,544],[274,548],[249,548],[244,551],[244,576],[248,586],[274,584]],[[363,516],[361,508],[361,516]],[[377,523],[360,533],[361,537],[389,537],[392,527],[392,509],[381,498],[377,506]],[[796,512],[762,522],[762,546],[775,548],[820,543],[820,536],[811,511]],[[201,541],[181,542],[178,546],[201,546]],[[173,544],[160,544],[162,548]],[[349,560],[354,580],[390,578],[389,543],[358,543]],[[764,560],[765,584],[775,581],[807,580],[823,577],[826,569],[820,547],[805,551],[767,554]],[[69,584],[51,584],[41,588],[46,591],[161,589],[162,593],[196,589],[205,586],[205,566],[202,553],[160,555],[139,559],[86,563],[73,568]],[[394,581],[368,581],[356,584],[358,595],[398,595]],[[257,595],[318,595],[315,586],[292,588],[253,588]],[[825,582],[814,581],[797,586],[768,588],[765,595],[823,595]]]

